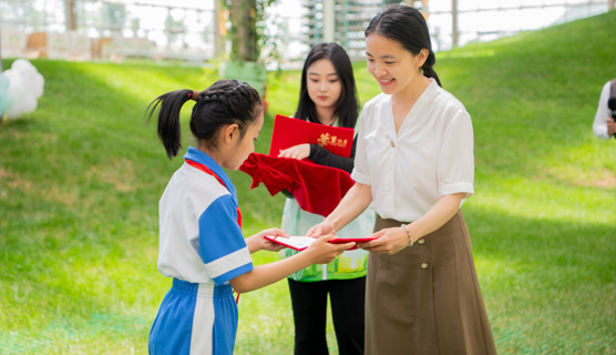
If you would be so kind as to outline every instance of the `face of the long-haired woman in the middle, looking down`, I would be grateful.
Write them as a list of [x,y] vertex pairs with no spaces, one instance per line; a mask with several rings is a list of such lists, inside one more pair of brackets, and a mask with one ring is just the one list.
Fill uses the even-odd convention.
[[306,88],[315,106],[332,109],[340,98],[342,84],[340,78],[329,59],[321,59],[308,67],[306,73]]

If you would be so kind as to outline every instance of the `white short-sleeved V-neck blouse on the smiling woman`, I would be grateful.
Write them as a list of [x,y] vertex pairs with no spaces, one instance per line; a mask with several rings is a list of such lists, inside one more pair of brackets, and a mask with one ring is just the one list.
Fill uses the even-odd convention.
[[383,219],[413,222],[443,195],[463,192],[470,197],[469,112],[431,79],[397,134],[391,95],[377,95],[363,105],[351,178],[371,186],[372,209]]

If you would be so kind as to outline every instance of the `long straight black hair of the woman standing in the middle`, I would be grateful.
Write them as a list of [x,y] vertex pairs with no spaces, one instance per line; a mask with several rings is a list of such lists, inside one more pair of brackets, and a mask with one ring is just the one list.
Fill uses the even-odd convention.
[[336,43],[319,43],[310,49],[304,62],[304,70],[301,71],[301,89],[299,91],[299,102],[297,103],[295,116],[319,123],[315,102],[308,94],[307,81],[308,68],[321,59],[329,59],[329,61],[331,61],[338,74],[338,80],[340,80],[340,85],[342,87],[333,110],[333,115],[338,116],[338,125],[355,129],[358,116],[358,102],[353,68],[351,67],[351,60],[349,55],[347,55],[347,52],[345,52],[345,49]]

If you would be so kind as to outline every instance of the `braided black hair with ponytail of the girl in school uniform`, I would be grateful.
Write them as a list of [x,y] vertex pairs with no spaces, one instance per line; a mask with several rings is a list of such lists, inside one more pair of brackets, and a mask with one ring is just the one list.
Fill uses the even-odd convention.
[[[176,90],[160,95],[145,110],[150,122],[156,108],[161,105],[157,131],[170,159],[177,155],[182,148],[179,111],[188,100],[195,100],[193,90]],[[216,81],[199,92],[196,101],[191,114],[191,132],[209,149],[216,149],[216,132],[224,125],[237,124],[243,138],[246,128],[263,111],[257,90],[237,80]]]

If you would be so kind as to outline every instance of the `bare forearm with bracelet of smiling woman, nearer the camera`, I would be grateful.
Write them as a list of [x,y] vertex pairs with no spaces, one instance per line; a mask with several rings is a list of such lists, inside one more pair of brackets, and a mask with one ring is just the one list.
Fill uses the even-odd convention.
[[[421,219],[408,224],[413,242],[437,231],[451,220],[460,209],[462,195],[462,193],[454,193],[442,196]],[[410,243],[407,230],[401,226],[384,229],[371,236],[379,239],[358,246],[374,254],[396,254]]]

